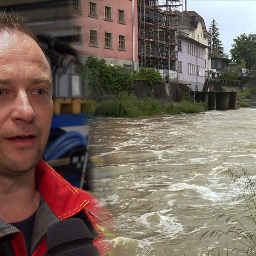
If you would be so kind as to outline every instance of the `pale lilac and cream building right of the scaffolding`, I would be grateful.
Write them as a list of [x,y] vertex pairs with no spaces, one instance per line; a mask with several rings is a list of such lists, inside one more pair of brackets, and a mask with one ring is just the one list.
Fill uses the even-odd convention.
[[183,12],[183,27],[178,34],[178,78],[192,89],[202,91],[206,74],[211,69],[211,57],[204,19],[195,11]]

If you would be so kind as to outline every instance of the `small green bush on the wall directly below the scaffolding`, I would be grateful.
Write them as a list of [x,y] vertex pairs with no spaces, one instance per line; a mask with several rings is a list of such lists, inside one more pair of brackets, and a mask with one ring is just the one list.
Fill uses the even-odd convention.
[[134,72],[134,79],[136,81],[144,80],[149,84],[153,84],[154,82],[163,82],[163,78],[159,72],[152,68],[141,68],[139,72]]

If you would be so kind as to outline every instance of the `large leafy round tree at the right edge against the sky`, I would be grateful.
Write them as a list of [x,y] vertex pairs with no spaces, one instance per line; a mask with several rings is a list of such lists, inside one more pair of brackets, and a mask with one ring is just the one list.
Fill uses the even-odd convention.
[[255,66],[256,64],[256,34],[241,34],[233,39],[232,60],[237,61],[239,64],[242,61],[246,62],[247,67]]

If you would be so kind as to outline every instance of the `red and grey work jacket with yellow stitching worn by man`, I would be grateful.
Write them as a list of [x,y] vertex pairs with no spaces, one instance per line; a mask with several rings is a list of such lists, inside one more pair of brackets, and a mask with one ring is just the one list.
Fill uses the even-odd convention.
[[[114,256],[110,240],[114,239],[113,216],[89,193],[73,187],[43,159],[35,167],[35,182],[41,194],[41,205],[35,217],[31,255],[47,252],[46,232],[49,226],[67,218],[81,218],[93,234],[93,244],[101,256]],[[0,219],[0,255],[27,256],[23,234]]]

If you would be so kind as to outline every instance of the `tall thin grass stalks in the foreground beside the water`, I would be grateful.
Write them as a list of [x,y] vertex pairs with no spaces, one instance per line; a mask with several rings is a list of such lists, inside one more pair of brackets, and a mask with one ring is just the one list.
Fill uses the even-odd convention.
[[[256,193],[255,193],[255,182],[252,180],[252,175],[244,171],[243,174],[238,174],[237,171],[230,172],[231,181],[233,184],[237,184],[241,196],[237,200],[244,201],[247,206],[247,214],[242,218],[236,218],[235,216],[219,215],[217,220],[224,219],[224,223],[227,227],[226,231],[215,230],[207,231],[203,233],[201,238],[209,235],[210,238],[216,237],[217,241],[227,238],[231,238],[237,241],[237,247],[232,248],[230,253],[227,251],[221,254],[219,249],[214,250],[213,248],[207,247],[208,256],[221,256],[221,255],[256,255]],[[255,174],[254,174],[255,175]],[[200,238],[200,239],[201,239]],[[230,249],[230,248],[229,248]]]

